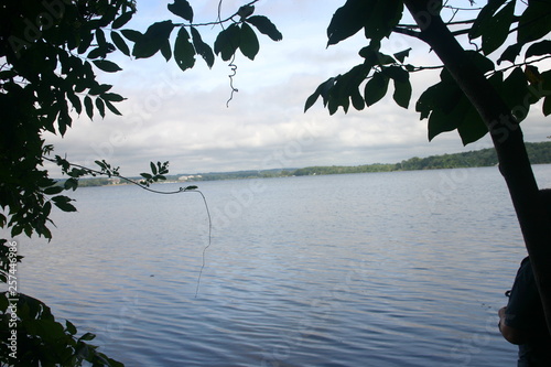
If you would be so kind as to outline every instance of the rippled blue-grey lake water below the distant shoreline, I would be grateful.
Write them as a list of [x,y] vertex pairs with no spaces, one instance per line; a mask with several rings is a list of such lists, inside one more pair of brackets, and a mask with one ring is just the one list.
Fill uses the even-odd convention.
[[127,366],[516,365],[497,168],[197,184],[206,250],[198,193],[79,188],[52,242],[20,238],[20,290]]

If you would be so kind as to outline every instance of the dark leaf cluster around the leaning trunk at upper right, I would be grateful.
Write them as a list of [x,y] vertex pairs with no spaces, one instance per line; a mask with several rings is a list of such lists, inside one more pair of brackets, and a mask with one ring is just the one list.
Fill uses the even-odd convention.
[[[452,6],[447,6],[460,12]],[[520,12],[517,14],[516,11]],[[393,82],[392,98],[408,108],[411,97],[409,76],[426,67],[404,64],[409,50],[392,56],[382,53],[381,44],[393,33],[423,40],[422,30],[400,24],[403,1],[347,0],[337,9],[327,28],[327,45],[336,44],[364,31],[369,45],[360,50],[364,63],[347,73],[328,78],[307,98],[305,110],[322,97],[329,114],[338,107],[345,112],[352,106],[361,110],[381,100]],[[450,22],[456,36],[466,34],[476,50],[466,51],[503,100],[509,106],[515,121],[522,121],[530,107],[542,100],[544,116],[551,114],[551,72],[540,69],[538,62],[551,57],[551,41],[543,37],[551,31],[551,2],[528,1],[523,7],[517,0],[490,0],[471,20]],[[463,25],[463,29],[457,26]],[[512,44],[506,42],[515,36]],[[500,55],[495,53],[501,51]],[[518,58],[523,52],[523,60]],[[497,60],[496,60],[497,58]],[[503,66],[507,62],[510,66]],[[501,67],[501,68],[499,68]],[[429,139],[445,131],[457,130],[464,144],[474,142],[488,132],[477,110],[468,101],[450,74],[443,69],[440,82],[430,86],[415,104],[421,119],[429,120]]]

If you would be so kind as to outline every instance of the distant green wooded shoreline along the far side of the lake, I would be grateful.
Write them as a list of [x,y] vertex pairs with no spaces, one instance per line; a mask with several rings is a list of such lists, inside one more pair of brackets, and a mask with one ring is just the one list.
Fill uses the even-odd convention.
[[[551,163],[551,142],[526,143],[526,149],[532,164]],[[426,158],[413,156],[399,163],[375,163],[356,166],[331,165],[331,166],[307,166],[304,169],[276,169],[263,171],[236,171],[236,172],[209,172],[199,174],[169,175],[168,181],[193,182],[193,181],[215,181],[215,180],[240,180],[259,177],[285,177],[305,176],[318,174],[342,174],[342,173],[366,173],[366,172],[391,172],[391,171],[417,171],[417,170],[439,170],[491,166],[497,164],[497,155],[493,148],[482,149],[464,153],[431,155]],[[186,177],[185,181],[182,177]],[[140,177],[136,177],[137,181]],[[80,186],[109,185],[117,182],[108,179],[83,179]]]

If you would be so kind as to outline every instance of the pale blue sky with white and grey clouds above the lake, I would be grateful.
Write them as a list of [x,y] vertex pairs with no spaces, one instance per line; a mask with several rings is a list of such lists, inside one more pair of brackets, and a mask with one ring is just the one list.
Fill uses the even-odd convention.
[[[138,14],[128,28],[144,31],[155,21],[171,17],[172,1],[138,0]],[[195,22],[217,18],[218,0],[191,0]],[[457,1],[462,2],[462,1]],[[463,1],[468,6],[468,1]],[[222,18],[234,13],[244,1],[225,0]],[[326,47],[326,28],[344,1],[262,0],[256,14],[269,17],[283,33],[273,42],[260,35],[260,53],[250,62],[240,53],[236,58],[230,97],[226,62],[217,58],[209,69],[197,60],[193,69],[182,73],[173,61],[160,55],[150,60],[111,57],[122,68],[100,80],[115,85],[114,91],[128,99],[117,107],[122,117],[108,115],[89,121],[80,116],[64,139],[47,136],[57,154],[90,165],[105,159],[121,168],[121,174],[136,175],[148,170],[149,161],[170,161],[171,173],[263,170],[309,165],[358,165],[395,163],[411,156],[454,153],[488,148],[488,138],[463,147],[456,132],[444,133],[432,142],[426,138],[426,120],[420,121],[414,102],[437,74],[412,76],[410,109],[398,107],[391,93],[364,111],[339,110],[329,116],[318,101],[306,114],[304,101],[318,84],[361,63],[357,52],[366,45],[355,36]],[[411,20],[404,19],[404,22]],[[218,28],[204,28],[203,37],[212,44]],[[176,33],[176,32],[173,32]],[[435,65],[430,50],[406,36],[392,37],[386,53],[412,46],[409,62]],[[544,141],[550,136],[541,105],[523,122],[527,141]]]

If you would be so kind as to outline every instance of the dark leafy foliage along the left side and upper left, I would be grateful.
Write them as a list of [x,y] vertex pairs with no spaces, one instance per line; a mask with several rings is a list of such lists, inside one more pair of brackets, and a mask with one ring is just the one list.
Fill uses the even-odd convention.
[[[76,211],[73,201],[62,194],[64,191],[76,190],[82,176],[119,176],[119,169],[105,161],[96,161],[97,168],[90,169],[53,156],[54,147],[43,139],[46,131],[63,137],[75,115],[89,119],[109,112],[121,115],[116,104],[125,98],[114,91],[112,85],[97,79],[99,73],[121,71],[109,60],[112,53],[147,58],[160,52],[166,61],[173,58],[182,71],[192,68],[196,57],[212,67],[215,55],[229,61],[237,51],[253,60],[260,50],[257,32],[274,41],[282,39],[268,18],[253,14],[257,1],[225,20],[194,24],[188,1],[174,0],[168,4],[174,20],[155,22],[142,33],[126,28],[137,12],[134,0],[1,0],[0,228],[9,229],[11,238],[34,234],[51,239],[53,207]],[[203,41],[198,30],[208,24],[222,29],[214,47]],[[62,185],[50,177],[45,162],[57,164],[67,175]],[[151,162],[150,172],[141,173],[140,184],[147,187],[165,180],[168,165]],[[194,188],[187,186],[179,192]],[[0,239],[3,282],[13,277],[12,258],[10,241]],[[13,314],[10,306],[17,306],[19,365],[74,366],[83,360],[94,366],[120,365],[87,343],[95,337],[93,334],[77,337],[76,327],[68,321],[65,325],[55,321],[43,302],[19,294],[13,305],[13,294],[0,295],[2,363],[13,363],[8,325]]]

